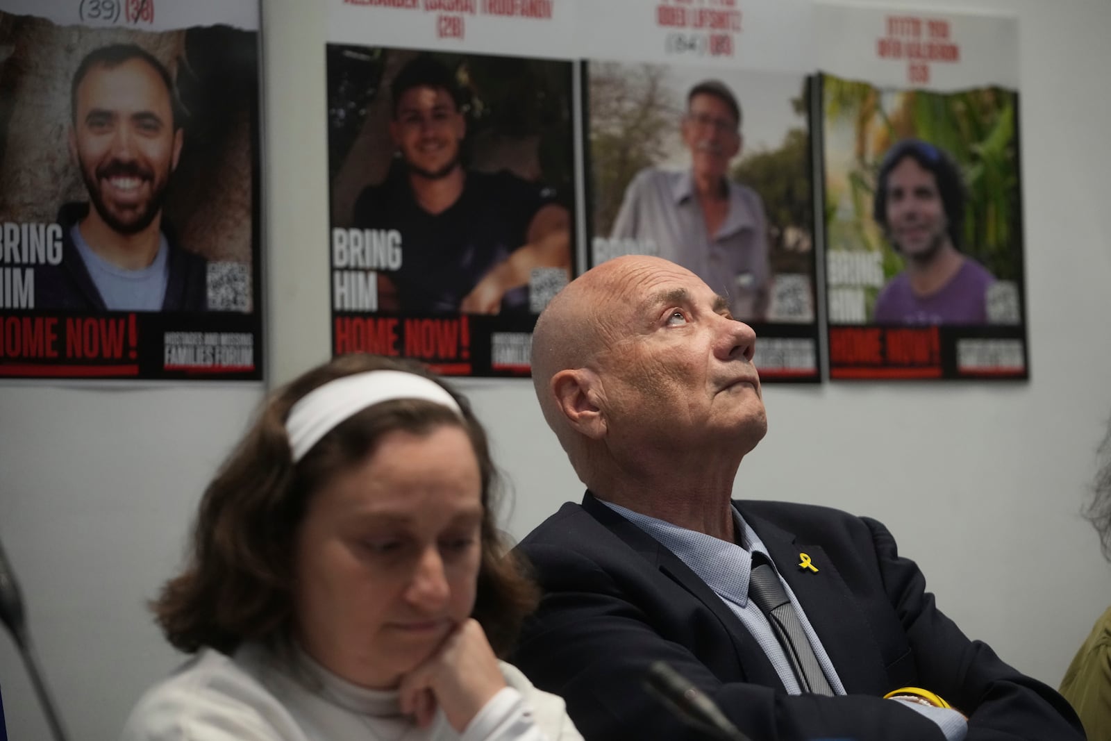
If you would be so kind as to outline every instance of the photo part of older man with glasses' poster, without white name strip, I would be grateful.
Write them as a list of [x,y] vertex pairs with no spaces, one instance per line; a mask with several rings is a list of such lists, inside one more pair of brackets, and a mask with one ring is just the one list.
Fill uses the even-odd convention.
[[592,264],[677,262],[761,336],[767,380],[818,380],[808,83],[697,64],[587,63]]

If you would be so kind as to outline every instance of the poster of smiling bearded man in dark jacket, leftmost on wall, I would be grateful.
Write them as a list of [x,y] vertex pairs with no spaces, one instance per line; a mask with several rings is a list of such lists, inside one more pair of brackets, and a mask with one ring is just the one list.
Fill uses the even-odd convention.
[[258,3],[0,1],[0,377],[260,379]]

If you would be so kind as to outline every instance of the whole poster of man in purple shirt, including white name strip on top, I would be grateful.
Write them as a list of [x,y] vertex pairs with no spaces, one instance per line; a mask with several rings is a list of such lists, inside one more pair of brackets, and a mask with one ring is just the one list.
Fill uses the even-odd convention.
[[819,17],[831,378],[1028,378],[1015,21]]

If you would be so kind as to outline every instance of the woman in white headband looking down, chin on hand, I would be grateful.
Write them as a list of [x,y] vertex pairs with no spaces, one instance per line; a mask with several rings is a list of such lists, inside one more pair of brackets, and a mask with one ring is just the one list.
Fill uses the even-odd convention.
[[279,390],[153,604],[196,655],[123,739],[581,739],[496,658],[537,593],[499,543],[494,489],[470,407],[419,368],[347,356]]

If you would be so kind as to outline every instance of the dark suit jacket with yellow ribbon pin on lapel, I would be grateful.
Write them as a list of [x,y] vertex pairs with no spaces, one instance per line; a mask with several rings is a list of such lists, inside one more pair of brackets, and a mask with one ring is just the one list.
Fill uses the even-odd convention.
[[[519,550],[544,590],[513,663],[562,695],[587,739],[695,739],[642,689],[664,660],[753,741],[942,741],[882,695],[912,685],[969,717],[967,741],[1067,741],[1083,731],[1052,689],[970,641],[874,520],[783,502],[734,502],[791,585],[847,697],[789,695],[737,617],[678,557],[588,492]],[[818,572],[802,569],[800,553]]]

